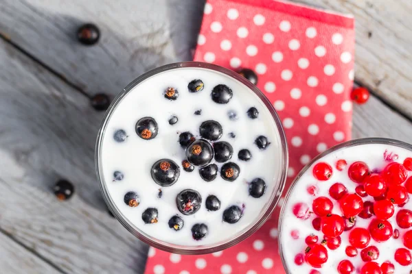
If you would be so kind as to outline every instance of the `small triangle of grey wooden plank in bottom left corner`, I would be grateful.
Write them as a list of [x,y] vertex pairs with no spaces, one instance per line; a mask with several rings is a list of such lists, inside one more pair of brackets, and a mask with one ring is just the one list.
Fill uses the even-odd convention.
[[14,242],[14,240],[5,236],[5,234],[0,233],[0,273],[57,274],[61,272],[30,251],[27,251],[27,249]]

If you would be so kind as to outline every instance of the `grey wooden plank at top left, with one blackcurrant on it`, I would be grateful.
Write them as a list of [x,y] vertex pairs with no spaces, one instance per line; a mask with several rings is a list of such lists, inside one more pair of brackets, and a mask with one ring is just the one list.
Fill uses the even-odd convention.
[[[161,64],[190,60],[204,1],[2,0],[0,33],[93,95],[116,95]],[[98,45],[76,40],[80,25],[101,29]]]

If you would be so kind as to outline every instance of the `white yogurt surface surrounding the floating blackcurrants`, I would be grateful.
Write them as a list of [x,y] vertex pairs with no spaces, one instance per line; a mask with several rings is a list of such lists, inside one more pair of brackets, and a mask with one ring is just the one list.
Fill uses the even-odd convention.
[[[203,81],[203,90],[196,93],[188,91],[187,84],[193,79]],[[211,100],[211,90],[218,84],[225,84],[233,90],[229,103],[218,104]],[[163,92],[168,87],[179,91],[176,101],[165,99]],[[252,106],[259,111],[258,119],[247,116],[247,110]],[[201,115],[194,115],[196,110],[202,110]],[[230,110],[237,112],[237,121],[229,120],[227,113]],[[168,123],[172,115],[179,119],[175,125]],[[159,125],[159,133],[152,140],[144,140],[135,132],[136,122],[144,116],[154,118]],[[185,151],[179,145],[179,134],[190,131],[198,138],[199,126],[207,120],[215,120],[222,125],[223,135],[218,141],[227,141],[233,147],[230,162],[240,166],[240,175],[234,182],[225,181],[220,173],[214,181],[205,182],[197,167],[188,173],[181,166],[182,160],[185,160]],[[128,138],[124,142],[115,142],[113,139],[117,129],[126,131]],[[230,138],[230,132],[236,134],[236,138]],[[254,144],[255,138],[260,135],[266,136],[271,142],[266,150],[260,150]],[[249,162],[238,160],[240,149],[251,151],[253,157]],[[150,176],[152,164],[162,158],[173,160],[180,166],[180,177],[172,186],[161,187]],[[266,211],[273,191],[278,190],[282,162],[281,137],[264,103],[236,79],[209,69],[172,69],[145,79],[115,106],[102,137],[102,184],[106,185],[115,208],[146,236],[183,247],[214,246],[250,229]],[[223,163],[215,163],[220,171]],[[121,171],[124,179],[113,182],[115,171]],[[264,179],[267,186],[265,194],[258,199],[249,195],[247,184],[257,177]],[[161,198],[157,197],[159,188],[163,192]],[[203,201],[198,212],[185,216],[176,208],[176,195],[188,188],[200,192]],[[140,204],[136,208],[124,203],[124,195],[128,191],[135,191],[140,197]],[[220,210],[207,211],[205,200],[208,195],[216,195],[220,199]],[[226,208],[232,205],[242,207],[242,204],[245,208],[238,223],[222,222],[222,213]],[[157,208],[158,223],[145,224],[142,221],[141,214],[146,208]],[[184,227],[179,231],[168,226],[169,219],[176,214],[183,217],[184,221]],[[195,223],[205,223],[209,227],[207,236],[198,241],[192,238],[191,228]]]

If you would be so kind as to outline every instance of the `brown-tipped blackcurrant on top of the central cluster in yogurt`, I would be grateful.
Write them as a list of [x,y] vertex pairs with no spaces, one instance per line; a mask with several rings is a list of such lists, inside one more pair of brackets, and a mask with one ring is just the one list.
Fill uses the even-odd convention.
[[187,147],[186,158],[194,166],[205,166],[213,159],[213,147],[207,140],[196,140]]

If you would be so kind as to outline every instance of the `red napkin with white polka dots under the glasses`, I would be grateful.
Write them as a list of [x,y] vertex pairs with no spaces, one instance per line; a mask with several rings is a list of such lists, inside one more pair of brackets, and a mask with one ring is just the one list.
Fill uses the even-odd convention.
[[[315,155],[350,139],[353,56],[352,17],[273,0],[209,0],[194,60],[258,74],[288,139],[288,186]],[[247,240],[217,253],[180,256],[150,247],[146,274],[285,273],[278,212]]]

